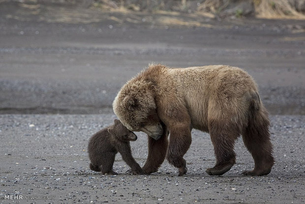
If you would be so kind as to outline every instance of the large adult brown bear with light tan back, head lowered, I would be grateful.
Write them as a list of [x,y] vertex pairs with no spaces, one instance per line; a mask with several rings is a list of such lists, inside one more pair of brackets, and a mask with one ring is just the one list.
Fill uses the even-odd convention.
[[206,170],[210,175],[221,175],[235,164],[234,143],[240,135],[255,162],[243,174],[266,175],[274,164],[268,113],[255,82],[240,68],[150,65],[122,87],[113,109],[130,131],[150,136],[146,173],[157,171],[166,157],[179,175],[185,174],[183,155],[192,128],[211,136],[216,164]]

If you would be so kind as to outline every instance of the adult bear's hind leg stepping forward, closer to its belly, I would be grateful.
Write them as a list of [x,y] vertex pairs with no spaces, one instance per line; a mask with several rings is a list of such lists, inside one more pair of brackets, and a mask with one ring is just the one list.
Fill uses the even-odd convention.
[[239,136],[238,128],[226,124],[228,121],[209,120],[209,133],[214,146],[216,164],[208,168],[209,175],[222,175],[235,164],[235,140]]

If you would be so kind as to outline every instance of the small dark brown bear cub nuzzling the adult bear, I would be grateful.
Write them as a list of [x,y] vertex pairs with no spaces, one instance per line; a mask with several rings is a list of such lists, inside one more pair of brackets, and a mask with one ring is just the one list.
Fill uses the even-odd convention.
[[137,136],[129,131],[120,120],[91,136],[88,144],[90,169],[101,171],[102,174],[118,174],[113,171],[113,163],[118,152],[131,168],[128,173],[145,174],[144,170],[131,155],[130,142],[137,140]]

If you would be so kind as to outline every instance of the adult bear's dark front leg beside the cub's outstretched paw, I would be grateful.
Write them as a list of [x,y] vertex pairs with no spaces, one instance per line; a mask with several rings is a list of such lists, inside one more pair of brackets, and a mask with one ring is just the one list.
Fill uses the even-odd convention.
[[148,157],[143,170],[145,173],[150,174],[158,171],[158,168],[165,160],[166,151],[168,147],[168,130],[167,127],[162,124],[163,134],[158,140],[154,140],[152,137],[148,137]]

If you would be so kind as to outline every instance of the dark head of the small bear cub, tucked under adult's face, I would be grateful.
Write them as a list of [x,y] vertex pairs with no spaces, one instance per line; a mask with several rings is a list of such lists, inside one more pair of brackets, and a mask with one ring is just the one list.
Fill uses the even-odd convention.
[[115,119],[114,122],[114,125],[108,128],[108,133],[111,136],[124,142],[137,140],[138,137],[133,132],[128,130],[120,120]]

